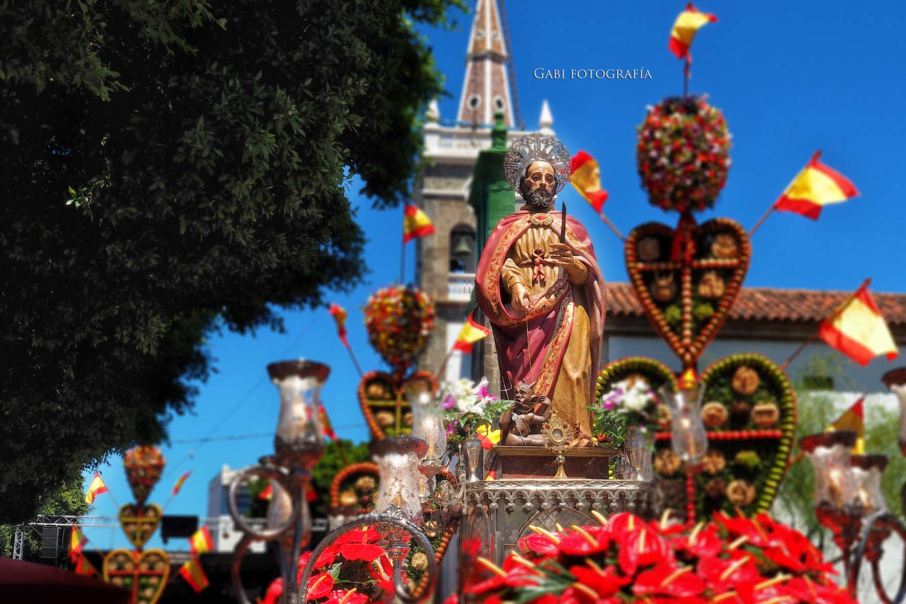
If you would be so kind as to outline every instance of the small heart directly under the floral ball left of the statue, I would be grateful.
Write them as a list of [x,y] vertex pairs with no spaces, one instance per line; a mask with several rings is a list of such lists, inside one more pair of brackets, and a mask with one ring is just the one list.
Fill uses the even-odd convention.
[[438,380],[428,371],[417,371],[402,381],[379,371],[361,378],[359,405],[374,438],[411,434],[412,408],[403,387],[412,382],[424,382],[430,392],[438,391]]

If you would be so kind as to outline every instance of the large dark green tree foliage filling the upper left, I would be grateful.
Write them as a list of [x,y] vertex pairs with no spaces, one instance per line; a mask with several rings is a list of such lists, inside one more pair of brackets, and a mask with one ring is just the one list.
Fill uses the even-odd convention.
[[0,521],[166,434],[219,322],[361,280],[460,0],[0,2]]

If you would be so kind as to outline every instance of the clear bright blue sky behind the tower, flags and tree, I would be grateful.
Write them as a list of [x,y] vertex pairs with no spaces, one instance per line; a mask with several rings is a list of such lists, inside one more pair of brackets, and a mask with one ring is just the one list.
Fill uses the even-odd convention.
[[[601,164],[611,198],[607,215],[628,232],[650,220],[675,224],[675,215],[652,208],[635,171],[635,127],[645,106],[682,91],[682,63],[667,50],[670,26],[685,2],[613,3],[592,0],[507,2],[516,87],[526,127],[535,128],[541,102],[554,114],[554,130],[571,152],[590,152]],[[733,133],[728,184],[714,210],[699,219],[726,216],[750,228],[821,149],[823,161],[853,180],[862,197],[824,209],[818,221],[775,213],[753,238],[747,286],[842,289],[873,278],[874,291],[906,292],[902,225],[902,166],[906,161],[906,63],[901,24],[906,5],[883,3],[871,10],[843,2],[728,3],[711,0],[699,9],[717,24],[699,32],[692,48],[690,91],[707,92],[723,110]],[[471,17],[455,32],[425,29],[451,98],[440,100],[441,117],[456,117]],[[645,80],[536,80],[536,67],[638,69]],[[390,144],[392,142],[390,141]],[[333,300],[349,311],[350,341],[366,369],[383,368],[367,344],[361,306],[377,287],[398,278],[400,209],[376,211],[354,195],[357,218],[370,241],[369,283]],[[625,281],[622,244],[572,190],[570,212],[588,227],[605,278]],[[408,250],[408,278],[414,268]],[[367,438],[355,399],[355,374],[336,339],[326,309],[285,314],[287,333],[226,334],[209,345],[218,373],[200,385],[194,414],[176,417],[174,440],[272,432],[277,395],[265,365],[304,356],[333,366],[323,390],[337,432]],[[229,412],[232,414],[228,414]],[[221,464],[255,463],[272,448],[268,437],[164,447],[169,465],[151,501],[163,502],[178,475],[193,470],[168,513],[206,515],[207,483]],[[193,452],[190,458],[189,453]],[[92,472],[86,472],[90,475]],[[130,501],[119,458],[101,473],[117,501]],[[115,515],[101,495],[94,513]],[[125,545],[111,531],[88,531],[96,547]],[[149,546],[159,544],[158,539]],[[178,547],[179,542],[176,543]]]

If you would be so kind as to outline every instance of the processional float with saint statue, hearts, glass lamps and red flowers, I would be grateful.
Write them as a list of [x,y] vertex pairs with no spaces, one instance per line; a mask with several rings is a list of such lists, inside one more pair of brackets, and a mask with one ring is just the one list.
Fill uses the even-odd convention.
[[[751,556],[732,558],[733,550],[764,549],[776,568],[791,572],[776,571],[765,580],[759,567],[752,571],[756,582],[750,589],[793,593],[800,581],[814,597],[852,601],[831,587],[820,553],[807,541],[795,554],[802,568],[771,550],[770,539],[793,534],[764,514],[794,445],[795,393],[784,369],[748,353],[719,359],[699,372],[700,356],[726,321],[751,257],[747,232],[737,222],[718,218],[699,224],[694,218],[695,211],[713,205],[727,178],[729,134],[722,114],[703,97],[668,98],[652,107],[639,127],[643,188],[654,205],[676,210],[679,222],[676,228],[651,222],[632,229],[624,257],[635,297],[679,358],[679,372],[636,356],[593,373],[606,290],[582,224],[554,208],[556,194],[581,166],[551,137],[521,136],[506,150],[499,119],[495,149],[500,155],[506,151],[500,170],[525,201],[523,209],[489,230],[477,270],[478,317],[493,335],[487,346],[496,352],[505,403],[487,393],[485,382],[440,390],[434,375],[411,371],[433,326],[432,303],[413,287],[378,292],[366,308],[366,324],[391,372],[364,375],[358,387],[376,463],[356,464],[336,477],[331,490],[336,528],[300,560],[311,533],[304,492],[323,450],[317,393],[329,370],[308,361],[270,365],[281,392],[275,455],[262,458],[230,488],[231,512],[246,532],[234,563],[240,601],[248,601],[240,561],[258,539],[278,542],[284,601],[358,604],[429,595],[456,534],[459,598],[477,601],[482,589],[515,589],[495,579],[496,573],[509,576],[500,570],[506,564],[512,574],[514,560],[541,572],[520,551],[529,557],[533,551],[542,556],[537,548],[545,556],[569,555],[569,548],[564,554],[550,546],[564,538],[586,541],[579,550],[591,555],[601,551],[595,549],[603,542],[596,534],[616,539],[626,531],[655,531],[651,542],[666,542],[677,532],[683,536],[679,541],[688,542],[683,555],[705,556],[700,540],[718,539],[708,524],[712,518],[729,534],[743,534],[729,544],[711,542],[735,560],[711,580],[738,580],[737,570],[746,568]],[[513,192],[509,195],[512,200]],[[904,375],[888,375],[892,389],[902,388]],[[489,418],[487,409],[501,413]],[[448,446],[448,435],[455,447]],[[906,530],[886,511],[877,488],[883,460],[851,457],[852,440],[852,434],[837,432],[800,441],[815,462],[818,517],[843,551],[850,592],[867,561],[882,600],[901,602],[903,582],[891,597],[882,587],[877,560],[884,539],[893,532],[906,536]],[[266,530],[246,526],[236,513],[238,485],[252,475],[279,487]],[[627,511],[631,514],[622,514]],[[619,529],[608,517],[620,518]],[[654,529],[633,529],[633,518],[661,521]],[[598,521],[604,533],[582,529]],[[745,534],[749,528],[752,536]],[[638,551],[647,555],[644,536],[641,540]],[[342,573],[336,564],[358,564],[360,587],[333,589]],[[635,585],[648,590],[644,593],[660,589],[675,596],[670,589],[682,583],[704,593],[704,583],[696,587],[693,575],[704,580],[691,568],[678,568],[653,587],[645,583],[650,578],[636,575]],[[686,578],[677,582],[683,573]],[[570,589],[586,595],[591,589],[581,588]],[[736,597],[736,588],[727,594],[724,598]],[[794,596],[776,598],[771,601],[794,601]]]

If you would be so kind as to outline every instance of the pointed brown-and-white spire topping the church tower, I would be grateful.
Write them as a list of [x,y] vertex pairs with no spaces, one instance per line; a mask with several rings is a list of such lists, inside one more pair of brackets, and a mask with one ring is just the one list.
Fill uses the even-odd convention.
[[466,79],[459,97],[459,122],[494,123],[503,112],[504,124],[515,126],[514,98],[510,90],[506,24],[499,2],[477,0],[466,54]]

